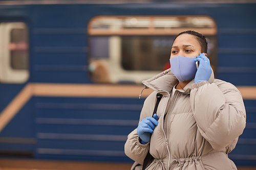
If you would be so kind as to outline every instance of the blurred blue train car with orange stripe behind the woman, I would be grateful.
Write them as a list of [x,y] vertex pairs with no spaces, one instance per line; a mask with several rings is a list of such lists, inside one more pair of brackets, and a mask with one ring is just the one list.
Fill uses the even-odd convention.
[[[41,2],[41,3],[40,3]],[[0,1],[0,154],[132,162],[141,81],[167,68],[181,31],[206,35],[215,76],[247,125],[229,157],[256,166],[256,4]],[[68,3],[67,3],[68,2]]]

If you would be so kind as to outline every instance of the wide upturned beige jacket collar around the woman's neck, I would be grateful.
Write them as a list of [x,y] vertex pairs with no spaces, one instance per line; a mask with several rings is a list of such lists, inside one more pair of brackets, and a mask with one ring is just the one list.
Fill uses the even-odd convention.
[[[212,69],[211,69],[212,70]],[[172,91],[174,85],[178,83],[178,79],[175,77],[170,69],[166,69],[165,71],[161,72],[160,74],[154,76],[151,79],[144,80],[142,83],[157,92],[170,92]],[[214,82],[214,71],[212,70],[208,83]],[[191,85],[194,84],[194,79],[191,80],[185,87],[182,92],[190,93]]]

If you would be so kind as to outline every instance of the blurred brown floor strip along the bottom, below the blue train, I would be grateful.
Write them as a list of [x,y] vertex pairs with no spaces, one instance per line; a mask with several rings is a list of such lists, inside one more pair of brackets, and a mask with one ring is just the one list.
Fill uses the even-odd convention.
[[[131,166],[132,163],[0,158],[0,170],[130,170]],[[238,167],[238,170],[256,170],[256,167]]]

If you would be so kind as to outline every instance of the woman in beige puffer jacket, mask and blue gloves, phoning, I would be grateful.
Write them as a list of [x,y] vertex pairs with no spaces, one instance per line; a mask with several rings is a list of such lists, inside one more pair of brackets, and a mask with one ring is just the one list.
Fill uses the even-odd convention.
[[[237,169],[227,154],[245,128],[244,103],[235,86],[214,79],[206,38],[180,33],[170,65],[142,82],[155,91],[144,102],[138,128],[128,135],[125,154],[143,164],[150,150],[154,160],[146,169]],[[153,118],[157,93],[163,97]]]

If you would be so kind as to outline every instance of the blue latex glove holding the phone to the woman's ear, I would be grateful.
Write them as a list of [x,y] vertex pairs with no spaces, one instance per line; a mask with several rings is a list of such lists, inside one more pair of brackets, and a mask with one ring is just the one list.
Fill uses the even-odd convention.
[[195,83],[201,81],[208,81],[211,75],[211,67],[210,60],[204,55],[204,53],[200,53],[199,56],[194,60],[194,62],[199,62],[198,70],[195,76]]

